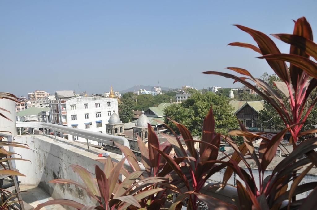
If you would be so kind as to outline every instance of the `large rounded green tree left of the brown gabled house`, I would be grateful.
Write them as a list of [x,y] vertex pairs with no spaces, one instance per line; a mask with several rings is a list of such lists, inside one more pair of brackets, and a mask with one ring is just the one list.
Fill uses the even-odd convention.
[[[204,117],[212,105],[217,133],[228,134],[229,131],[238,128],[238,122],[233,113],[233,107],[229,105],[229,98],[218,96],[211,92],[204,94],[194,93],[186,101],[173,104],[165,109],[165,115],[189,129],[192,135],[201,136]],[[177,127],[169,120],[165,120],[173,130]]]

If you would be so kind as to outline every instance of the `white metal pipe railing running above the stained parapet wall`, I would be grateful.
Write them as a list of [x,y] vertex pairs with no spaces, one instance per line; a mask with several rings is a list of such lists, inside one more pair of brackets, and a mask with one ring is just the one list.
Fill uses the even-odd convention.
[[[72,128],[72,127],[67,127],[67,126],[61,126],[53,123],[47,123],[47,122],[16,122],[16,127],[25,127],[25,128],[43,128],[43,135],[45,133],[49,135],[49,131],[58,131],[61,133],[67,133],[73,136],[78,136],[84,139],[87,139],[87,150],[89,151],[89,143],[88,139],[96,142],[101,142],[106,145],[112,145],[112,141],[122,144],[124,146],[127,146],[130,148],[130,144],[128,139],[122,137],[122,136],[114,136],[106,133],[97,133],[93,131],[87,131],[87,130],[82,130],[78,128]],[[55,136],[55,132],[54,132]],[[56,136],[55,136],[56,139]],[[125,155],[122,152],[122,158],[124,158]],[[130,168],[130,164],[127,160],[125,160],[124,163],[125,167]],[[140,168],[142,170],[145,170],[143,164],[139,163]]]

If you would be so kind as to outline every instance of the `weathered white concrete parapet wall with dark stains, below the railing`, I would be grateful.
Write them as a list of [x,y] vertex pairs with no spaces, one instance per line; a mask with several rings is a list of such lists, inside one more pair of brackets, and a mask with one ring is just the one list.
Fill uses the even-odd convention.
[[[26,161],[16,161],[16,167],[26,175],[19,176],[21,184],[34,185],[43,188],[53,198],[71,199],[85,205],[95,205],[87,193],[74,185],[49,183],[50,180],[63,178],[71,179],[81,184],[81,178],[69,167],[77,164],[95,176],[95,165],[103,169],[103,164],[96,159],[99,153],[105,152],[97,148],[90,148],[78,142],[44,135],[21,135],[16,136],[15,141],[26,143],[30,150],[15,148],[15,152],[21,154]],[[121,160],[121,155],[110,152],[114,161]]]

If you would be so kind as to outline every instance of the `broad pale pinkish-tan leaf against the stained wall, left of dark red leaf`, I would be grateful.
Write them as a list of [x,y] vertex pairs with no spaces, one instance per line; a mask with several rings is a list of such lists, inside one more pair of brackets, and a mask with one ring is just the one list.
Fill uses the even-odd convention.
[[81,177],[82,181],[85,183],[87,189],[94,195],[100,196],[100,192],[94,181],[93,176],[83,167],[79,165],[70,165],[72,169]]

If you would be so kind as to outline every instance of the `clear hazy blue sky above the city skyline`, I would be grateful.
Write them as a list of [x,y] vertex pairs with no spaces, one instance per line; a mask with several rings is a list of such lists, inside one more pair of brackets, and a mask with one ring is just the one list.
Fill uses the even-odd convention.
[[[227,66],[272,73],[232,24],[292,33],[306,16],[317,38],[317,1],[0,1],[0,91],[101,93],[136,84],[232,87],[202,75]],[[275,38],[272,38],[276,40]],[[282,52],[288,45],[276,40]]]

